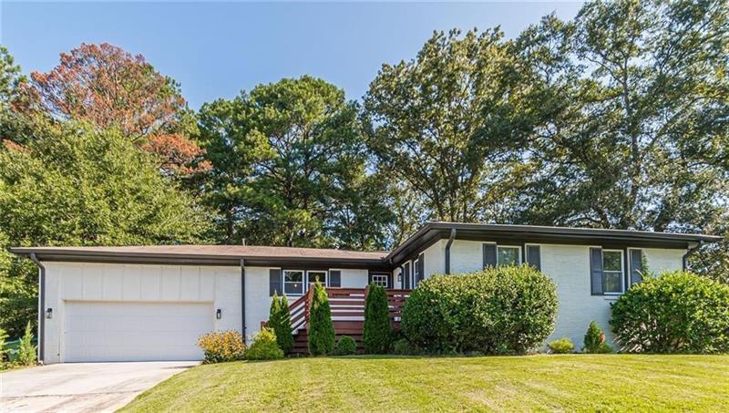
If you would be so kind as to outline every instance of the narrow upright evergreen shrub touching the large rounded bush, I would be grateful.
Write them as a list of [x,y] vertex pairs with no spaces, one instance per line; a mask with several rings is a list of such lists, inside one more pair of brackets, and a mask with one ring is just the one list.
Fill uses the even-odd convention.
[[390,349],[390,308],[385,288],[370,284],[364,301],[364,328],[362,344],[364,353],[385,354]]

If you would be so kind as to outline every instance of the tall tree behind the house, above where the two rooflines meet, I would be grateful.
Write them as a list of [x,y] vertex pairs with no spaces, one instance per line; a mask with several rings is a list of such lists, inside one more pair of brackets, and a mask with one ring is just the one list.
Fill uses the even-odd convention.
[[415,60],[383,65],[364,98],[367,146],[378,167],[420,197],[428,219],[498,217],[500,179],[517,168],[529,131],[519,61],[499,30],[435,33]]

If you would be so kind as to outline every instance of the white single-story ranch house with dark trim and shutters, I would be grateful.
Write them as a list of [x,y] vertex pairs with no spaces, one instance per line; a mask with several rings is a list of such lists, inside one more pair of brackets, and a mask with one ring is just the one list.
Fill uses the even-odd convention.
[[258,331],[274,291],[289,297],[295,330],[305,334],[301,303],[316,279],[334,292],[333,319],[340,334],[336,320],[361,323],[369,283],[385,285],[393,297],[404,298],[433,274],[515,263],[534,265],[554,280],[560,309],[549,339],[568,336],[580,346],[590,320],[609,329],[611,302],[641,282],[643,265],[654,273],[680,270],[702,243],[720,239],[428,222],[390,253],[241,245],[10,251],[40,268],[39,358],[51,364],[201,359],[196,341],[202,334],[234,329],[250,336]]

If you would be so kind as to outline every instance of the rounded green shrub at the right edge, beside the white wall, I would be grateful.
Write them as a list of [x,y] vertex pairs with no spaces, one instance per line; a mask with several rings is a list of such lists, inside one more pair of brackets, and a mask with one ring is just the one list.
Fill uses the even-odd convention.
[[624,351],[729,352],[729,285],[682,271],[646,278],[612,305],[610,324]]

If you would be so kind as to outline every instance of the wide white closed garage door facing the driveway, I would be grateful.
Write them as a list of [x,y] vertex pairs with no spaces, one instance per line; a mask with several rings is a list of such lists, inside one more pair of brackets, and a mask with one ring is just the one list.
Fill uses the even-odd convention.
[[201,360],[213,317],[210,304],[67,302],[64,359]]

